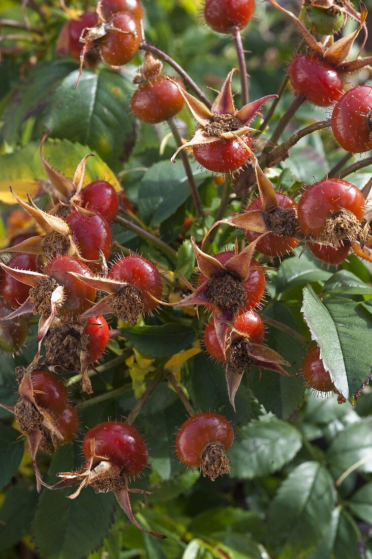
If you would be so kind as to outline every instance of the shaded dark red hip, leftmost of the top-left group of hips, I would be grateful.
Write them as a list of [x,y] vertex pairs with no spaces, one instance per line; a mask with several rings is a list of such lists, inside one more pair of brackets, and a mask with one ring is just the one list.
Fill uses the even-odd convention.
[[98,17],[95,12],[84,12],[77,20],[70,20],[64,24],[55,47],[58,56],[68,56],[76,60],[80,59],[80,53],[84,43],[79,41],[82,32],[86,27],[95,27]]

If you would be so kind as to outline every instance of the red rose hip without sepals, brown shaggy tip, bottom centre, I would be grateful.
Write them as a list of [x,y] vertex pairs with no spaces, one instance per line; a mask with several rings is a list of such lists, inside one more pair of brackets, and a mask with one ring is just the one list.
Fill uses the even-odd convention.
[[176,452],[187,466],[199,466],[212,481],[229,471],[226,452],[233,444],[234,430],[222,415],[192,415],[178,429]]

